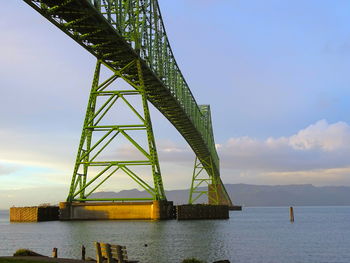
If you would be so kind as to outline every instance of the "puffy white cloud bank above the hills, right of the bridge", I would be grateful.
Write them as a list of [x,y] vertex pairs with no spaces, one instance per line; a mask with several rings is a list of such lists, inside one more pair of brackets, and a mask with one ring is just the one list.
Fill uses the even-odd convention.
[[219,147],[223,168],[303,171],[350,165],[350,126],[320,120],[289,137],[231,138]]

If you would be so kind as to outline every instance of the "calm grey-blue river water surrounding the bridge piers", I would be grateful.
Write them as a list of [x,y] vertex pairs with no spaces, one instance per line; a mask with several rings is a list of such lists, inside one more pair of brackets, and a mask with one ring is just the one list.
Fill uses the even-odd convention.
[[[78,221],[10,223],[0,211],[0,256],[29,248],[59,257],[95,257],[94,241],[126,245],[130,259],[181,262],[196,257],[213,262],[350,262],[350,207],[244,208],[228,220]],[[147,246],[145,246],[147,244]]]

